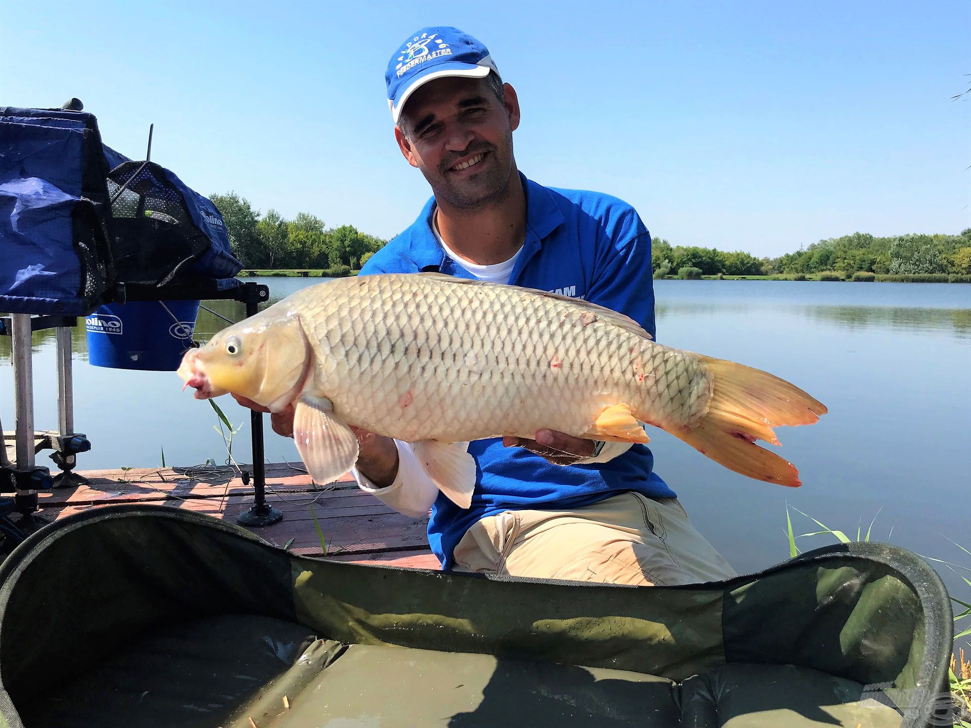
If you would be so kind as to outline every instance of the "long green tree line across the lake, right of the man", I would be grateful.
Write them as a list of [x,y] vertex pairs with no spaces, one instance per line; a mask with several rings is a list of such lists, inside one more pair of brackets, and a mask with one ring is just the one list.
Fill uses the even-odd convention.
[[776,258],[756,258],[748,252],[716,248],[672,247],[663,238],[653,241],[654,275],[662,278],[686,268],[702,275],[771,276],[840,271],[878,275],[951,273],[971,275],[971,227],[959,235],[909,234],[879,238],[854,233],[828,238]]

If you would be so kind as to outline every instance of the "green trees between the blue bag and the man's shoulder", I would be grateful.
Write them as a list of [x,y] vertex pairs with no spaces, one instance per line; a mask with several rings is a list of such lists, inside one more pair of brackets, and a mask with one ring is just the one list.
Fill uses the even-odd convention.
[[317,215],[286,220],[276,210],[260,215],[236,192],[210,196],[226,224],[233,254],[246,268],[358,270],[386,240],[353,225],[327,228]]

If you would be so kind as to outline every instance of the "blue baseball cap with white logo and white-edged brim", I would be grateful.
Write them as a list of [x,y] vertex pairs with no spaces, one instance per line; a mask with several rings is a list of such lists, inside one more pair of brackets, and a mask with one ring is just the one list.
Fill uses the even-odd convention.
[[391,56],[385,72],[387,106],[398,123],[405,102],[422,83],[447,76],[483,79],[499,73],[488,49],[458,28],[421,28]]

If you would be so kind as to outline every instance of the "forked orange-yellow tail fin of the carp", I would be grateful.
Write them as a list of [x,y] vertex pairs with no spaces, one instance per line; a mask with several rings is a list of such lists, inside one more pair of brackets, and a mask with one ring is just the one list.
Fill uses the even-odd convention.
[[816,422],[826,407],[794,384],[743,364],[699,357],[715,381],[708,413],[672,434],[729,470],[789,487],[801,484],[787,460],[755,445],[779,445],[772,428]]

